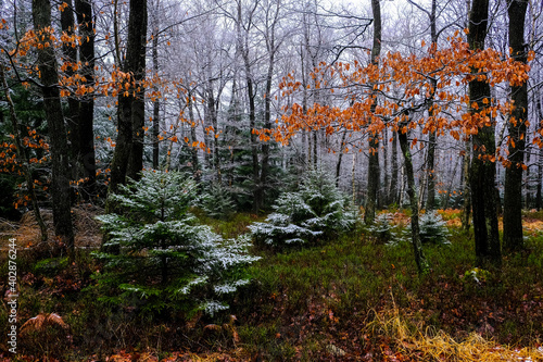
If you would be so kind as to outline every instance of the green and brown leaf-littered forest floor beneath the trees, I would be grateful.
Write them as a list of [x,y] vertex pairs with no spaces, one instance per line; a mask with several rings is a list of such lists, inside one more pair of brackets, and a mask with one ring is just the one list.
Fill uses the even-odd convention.
[[[253,282],[232,297],[228,314],[188,322],[99,304],[91,275],[100,265],[90,250],[101,240],[92,219],[100,210],[74,213],[80,248],[73,265],[54,242],[39,242],[31,216],[0,223],[2,247],[14,237],[20,249],[17,354],[2,337],[0,361],[543,361],[542,212],[525,213],[526,249],[505,255],[500,270],[475,269],[458,210],[441,212],[451,242],[425,245],[425,276],[407,241],[383,242],[363,227],[312,248],[254,250],[262,260],[251,267]],[[255,220],[203,222],[231,237]],[[392,232],[400,235],[407,220],[394,213]]]

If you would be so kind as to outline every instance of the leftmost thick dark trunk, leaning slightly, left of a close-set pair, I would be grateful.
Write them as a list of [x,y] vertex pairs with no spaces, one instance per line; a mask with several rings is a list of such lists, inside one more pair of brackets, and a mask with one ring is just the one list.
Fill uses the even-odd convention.
[[[72,225],[72,212],[70,200],[70,167],[68,145],[66,140],[66,128],[59,90],[58,63],[49,33],[45,28],[51,26],[51,3],[49,0],[33,0],[33,21],[37,35],[42,34],[38,48],[38,68],[40,72],[41,91],[43,93],[43,107],[47,114],[49,127],[50,153],[51,153],[51,196],[53,208],[54,233],[63,242],[74,259],[74,229]],[[43,32],[43,33],[42,33]]]

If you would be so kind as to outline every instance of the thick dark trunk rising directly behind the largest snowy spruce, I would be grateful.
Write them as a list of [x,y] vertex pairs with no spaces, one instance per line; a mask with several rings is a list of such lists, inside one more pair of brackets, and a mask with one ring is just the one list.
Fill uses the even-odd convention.
[[[131,74],[127,92],[121,92],[117,105],[117,139],[111,163],[110,192],[116,192],[126,176],[137,179],[143,166],[143,88],[146,77],[147,1],[130,0],[128,42],[123,71]],[[108,210],[113,204],[109,203]]]

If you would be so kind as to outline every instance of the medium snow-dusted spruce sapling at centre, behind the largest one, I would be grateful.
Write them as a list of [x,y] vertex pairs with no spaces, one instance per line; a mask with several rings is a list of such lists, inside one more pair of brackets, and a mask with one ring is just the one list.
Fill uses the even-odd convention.
[[283,248],[314,242],[351,229],[356,210],[333,178],[310,172],[295,192],[283,192],[265,222],[249,226],[255,244]]

